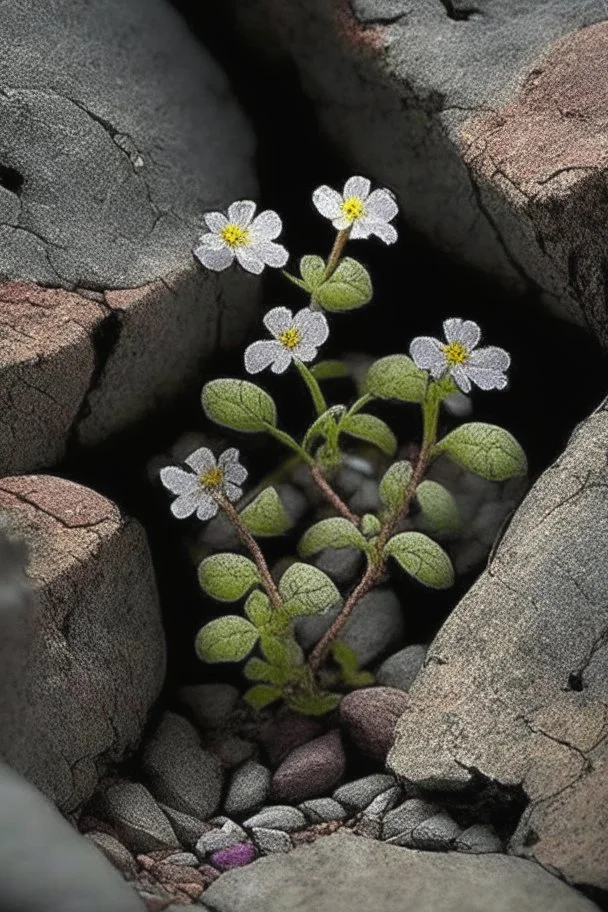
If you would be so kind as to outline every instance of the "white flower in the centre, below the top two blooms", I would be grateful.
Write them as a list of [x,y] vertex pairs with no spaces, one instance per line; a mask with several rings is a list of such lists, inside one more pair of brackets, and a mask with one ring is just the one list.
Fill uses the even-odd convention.
[[275,307],[264,317],[264,325],[274,341],[254,342],[245,352],[245,368],[259,374],[270,367],[273,374],[282,374],[294,358],[312,361],[317,348],[329,335],[329,326],[322,313],[305,307],[293,316],[287,307]]

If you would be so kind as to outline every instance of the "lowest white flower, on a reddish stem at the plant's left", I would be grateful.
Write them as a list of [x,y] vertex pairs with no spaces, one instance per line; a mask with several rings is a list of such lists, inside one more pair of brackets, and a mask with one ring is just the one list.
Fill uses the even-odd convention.
[[218,510],[217,495],[237,501],[242,496],[240,485],[247,478],[247,469],[239,463],[239,451],[224,450],[216,461],[207,447],[195,450],[185,460],[192,472],[177,466],[161,469],[160,480],[177,498],[171,512],[177,519],[186,519],[196,512],[199,519],[211,519]]

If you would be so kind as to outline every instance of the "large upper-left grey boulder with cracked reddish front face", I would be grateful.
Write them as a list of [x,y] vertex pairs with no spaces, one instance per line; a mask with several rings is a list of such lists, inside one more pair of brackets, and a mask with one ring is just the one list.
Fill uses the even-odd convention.
[[259,283],[208,273],[192,248],[204,212],[256,180],[226,77],[164,0],[8,0],[0,114],[11,474],[168,406],[240,340]]

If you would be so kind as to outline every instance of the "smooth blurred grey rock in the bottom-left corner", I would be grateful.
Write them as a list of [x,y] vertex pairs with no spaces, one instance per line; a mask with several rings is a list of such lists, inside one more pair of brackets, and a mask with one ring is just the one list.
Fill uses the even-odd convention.
[[7,912],[144,912],[103,854],[35,788],[0,765],[0,876]]

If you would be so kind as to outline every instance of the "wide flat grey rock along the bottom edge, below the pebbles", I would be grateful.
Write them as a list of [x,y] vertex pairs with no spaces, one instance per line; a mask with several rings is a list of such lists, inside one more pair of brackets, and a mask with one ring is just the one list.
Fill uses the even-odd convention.
[[346,833],[224,874],[205,902],[213,912],[598,912],[521,858],[419,852]]

